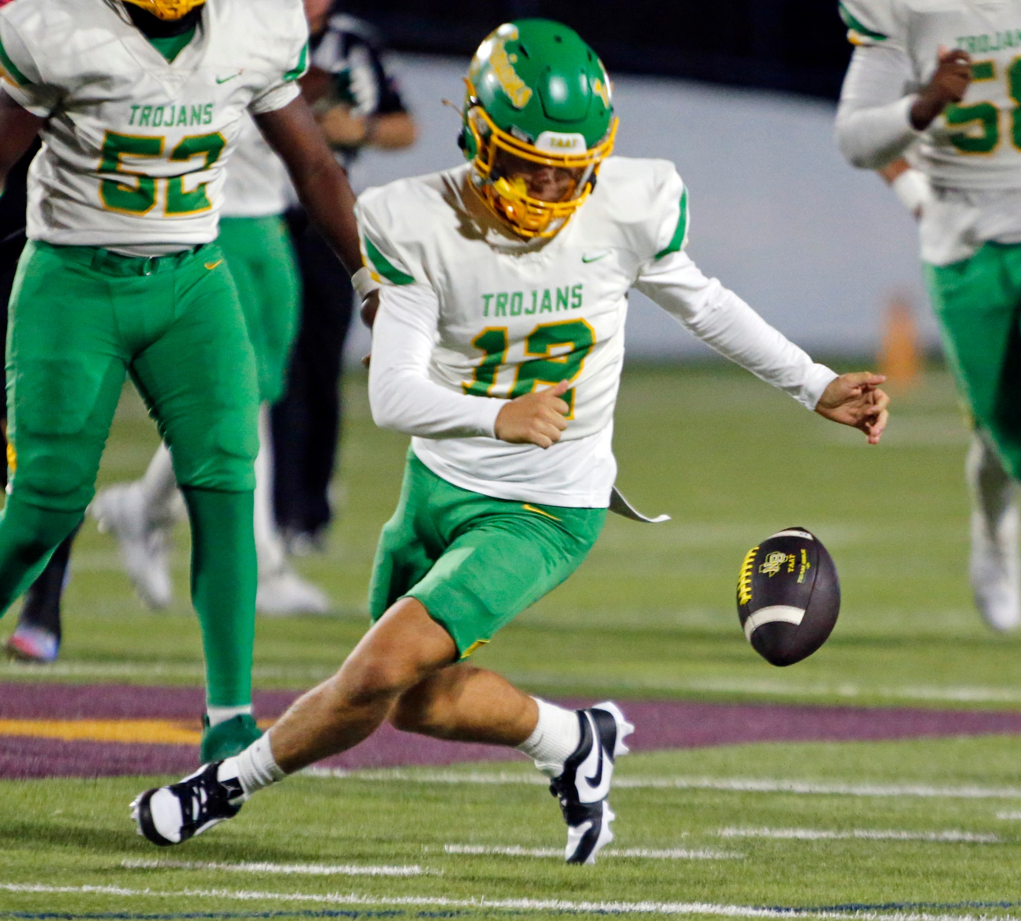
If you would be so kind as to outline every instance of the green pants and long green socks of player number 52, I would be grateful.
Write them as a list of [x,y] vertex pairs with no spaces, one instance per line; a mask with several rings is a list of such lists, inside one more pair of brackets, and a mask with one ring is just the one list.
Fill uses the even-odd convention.
[[171,449],[193,528],[209,703],[251,698],[255,357],[216,246],[135,259],[30,243],[7,329],[10,485],[0,612],[81,521],[130,374]]

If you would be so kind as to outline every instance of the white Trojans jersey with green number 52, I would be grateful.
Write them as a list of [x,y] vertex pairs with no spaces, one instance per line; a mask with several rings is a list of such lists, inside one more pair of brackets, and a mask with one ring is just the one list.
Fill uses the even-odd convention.
[[165,251],[216,237],[245,113],[298,95],[300,0],[207,0],[173,62],[119,0],[14,0],[0,9],[0,85],[47,118],[29,175],[30,239]]

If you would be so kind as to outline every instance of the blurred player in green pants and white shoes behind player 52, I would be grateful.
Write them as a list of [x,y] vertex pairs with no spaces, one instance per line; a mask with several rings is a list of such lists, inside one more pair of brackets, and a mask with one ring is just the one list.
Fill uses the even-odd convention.
[[[255,460],[255,609],[263,614],[322,614],[330,609],[330,600],[287,562],[273,512],[274,454],[269,414],[284,390],[300,300],[294,250],[283,218],[289,193],[287,167],[255,122],[246,117],[227,169],[217,243],[238,287],[245,325],[255,350],[262,403]],[[318,234],[317,239],[330,253],[336,272],[348,278],[326,241]],[[350,289],[350,280],[346,284]],[[349,312],[347,308],[345,316]],[[172,597],[172,531],[184,511],[166,447],[159,447],[145,476],[104,490],[90,511],[101,529],[116,538],[125,568],[142,601],[151,608],[165,608]]]

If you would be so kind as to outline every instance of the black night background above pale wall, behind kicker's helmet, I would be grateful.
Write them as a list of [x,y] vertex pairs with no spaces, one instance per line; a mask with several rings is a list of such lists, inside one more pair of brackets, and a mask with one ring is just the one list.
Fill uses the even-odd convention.
[[500,22],[558,19],[616,72],[835,99],[850,55],[836,0],[343,0],[402,51],[471,54]]

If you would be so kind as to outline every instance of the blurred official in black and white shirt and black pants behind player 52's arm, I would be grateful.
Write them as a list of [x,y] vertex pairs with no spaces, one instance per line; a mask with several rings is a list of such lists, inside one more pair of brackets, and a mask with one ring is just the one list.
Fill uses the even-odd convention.
[[[416,140],[382,40],[333,0],[306,0],[311,32],[301,86],[338,160],[351,165],[364,148],[398,150]],[[322,548],[331,519],[330,480],[341,427],[340,382],[351,321],[351,283],[300,206],[287,220],[302,278],[298,339],[283,400],[273,409],[277,524],[292,552]]]

